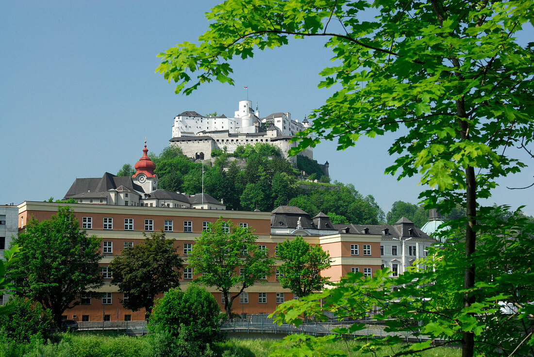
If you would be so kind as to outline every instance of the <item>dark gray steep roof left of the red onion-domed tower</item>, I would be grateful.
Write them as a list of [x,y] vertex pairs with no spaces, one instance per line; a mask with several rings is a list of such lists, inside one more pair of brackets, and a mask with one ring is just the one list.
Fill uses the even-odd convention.
[[124,186],[130,191],[143,192],[143,188],[133,183],[131,177],[128,176],[115,176],[112,173],[106,172],[102,177],[91,178],[77,178],[70,186],[67,193],[63,197],[64,200],[69,198],[82,198],[82,197],[106,197],[107,191],[110,189],[116,189],[117,187]]

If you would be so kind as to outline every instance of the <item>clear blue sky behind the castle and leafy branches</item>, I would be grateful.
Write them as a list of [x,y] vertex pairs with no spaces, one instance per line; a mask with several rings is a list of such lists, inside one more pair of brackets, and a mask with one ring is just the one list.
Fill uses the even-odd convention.
[[[0,204],[61,198],[77,177],[116,173],[142,155],[145,136],[159,153],[175,115],[233,115],[246,99],[243,86],[261,116],[289,111],[299,120],[332,94],[317,89],[317,74],[331,54],[324,39],[308,38],[232,62],[235,86],[211,83],[190,96],[176,95],[174,85],[154,73],[156,54],[194,42],[207,28],[204,13],[216,3],[0,1]],[[520,41],[531,38],[529,28]],[[363,139],[343,152],[326,142],[314,155],[319,163],[328,160],[332,179],[372,194],[387,213],[397,200],[416,203],[421,191],[418,178],[383,174],[392,163],[387,148],[393,138]],[[533,176],[531,165],[502,179],[490,203],[530,203],[532,189],[504,186],[530,185]],[[524,211],[534,215],[529,205]]]

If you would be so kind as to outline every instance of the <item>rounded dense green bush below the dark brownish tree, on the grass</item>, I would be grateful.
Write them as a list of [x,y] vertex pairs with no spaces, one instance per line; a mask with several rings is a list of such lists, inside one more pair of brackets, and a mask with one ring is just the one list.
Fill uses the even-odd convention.
[[206,289],[190,285],[187,290],[167,291],[156,302],[148,328],[167,331],[170,336],[186,336],[191,341],[211,344],[221,339],[221,309]]

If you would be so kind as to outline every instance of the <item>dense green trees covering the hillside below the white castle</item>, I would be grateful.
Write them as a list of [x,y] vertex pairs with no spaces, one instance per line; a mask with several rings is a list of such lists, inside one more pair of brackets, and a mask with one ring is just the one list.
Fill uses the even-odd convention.
[[[378,224],[386,219],[372,195],[360,194],[354,185],[328,184],[321,166],[307,157],[297,156],[297,169],[271,144],[239,146],[234,153],[211,153],[213,163],[193,162],[178,147],[166,147],[158,155],[150,153],[156,164],[159,188],[195,194],[202,191],[222,200],[230,210],[272,211],[279,205],[295,205],[313,217],[323,211],[332,213],[334,223]],[[127,166],[128,164],[125,164]],[[130,165],[131,166],[131,165]],[[123,170],[121,169],[121,172]],[[317,177],[335,189],[324,190],[318,184],[302,189],[301,171]]]

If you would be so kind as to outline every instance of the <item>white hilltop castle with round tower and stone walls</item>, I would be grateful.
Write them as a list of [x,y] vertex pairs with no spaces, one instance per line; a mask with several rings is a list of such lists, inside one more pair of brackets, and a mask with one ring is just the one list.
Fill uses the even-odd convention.
[[[288,156],[295,142],[289,142],[295,133],[308,129],[311,124],[292,120],[291,113],[272,113],[260,118],[260,112],[252,108],[252,101],[241,100],[233,117],[204,116],[194,111],[183,112],[174,118],[171,146],[178,146],[183,153],[194,159],[209,160],[214,150],[233,153],[240,145],[258,142],[280,148],[290,162],[296,163],[296,156]],[[299,155],[313,160],[313,149],[304,149]]]

